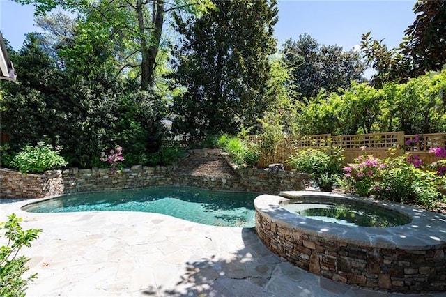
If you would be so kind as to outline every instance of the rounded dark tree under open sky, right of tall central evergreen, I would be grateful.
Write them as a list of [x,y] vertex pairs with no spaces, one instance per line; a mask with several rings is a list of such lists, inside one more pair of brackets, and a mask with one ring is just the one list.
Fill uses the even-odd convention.
[[337,45],[319,45],[305,33],[299,40],[286,40],[282,54],[284,61],[293,69],[294,79],[290,82],[301,98],[315,97],[321,89],[336,92],[347,89],[351,81],[362,82],[365,64],[360,54],[350,50],[344,52]]

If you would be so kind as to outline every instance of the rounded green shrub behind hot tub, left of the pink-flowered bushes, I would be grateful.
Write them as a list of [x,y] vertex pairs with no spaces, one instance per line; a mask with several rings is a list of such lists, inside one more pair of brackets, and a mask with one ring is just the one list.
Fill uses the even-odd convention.
[[303,148],[290,157],[291,167],[312,174],[321,190],[333,189],[341,176],[344,156],[339,148]]

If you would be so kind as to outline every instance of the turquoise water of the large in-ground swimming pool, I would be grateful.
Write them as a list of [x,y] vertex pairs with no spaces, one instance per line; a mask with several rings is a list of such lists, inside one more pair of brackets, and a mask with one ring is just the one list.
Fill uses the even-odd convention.
[[63,195],[29,204],[23,210],[31,213],[143,211],[214,226],[254,227],[256,196],[249,192],[155,187]]

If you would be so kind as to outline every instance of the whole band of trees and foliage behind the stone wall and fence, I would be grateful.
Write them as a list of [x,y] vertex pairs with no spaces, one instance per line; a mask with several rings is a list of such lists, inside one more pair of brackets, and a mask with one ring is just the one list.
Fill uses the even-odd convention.
[[[0,82],[1,162],[45,141],[72,166],[116,145],[125,165],[153,164],[168,118],[176,139],[251,131],[266,150],[296,133],[446,129],[444,71],[417,75],[444,63],[443,1],[415,5],[399,49],[364,35],[374,86],[358,52],[308,34],[277,52],[276,0],[15,1],[36,5],[43,33],[8,48],[18,78]],[[75,14],[48,15],[56,6]]]

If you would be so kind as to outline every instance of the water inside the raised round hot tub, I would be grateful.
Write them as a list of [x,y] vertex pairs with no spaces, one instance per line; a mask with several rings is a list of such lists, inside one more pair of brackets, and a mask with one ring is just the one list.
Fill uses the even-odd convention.
[[292,203],[282,206],[291,213],[335,224],[355,227],[394,227],[408,224],[410,218],[396,211],[348,203]]

